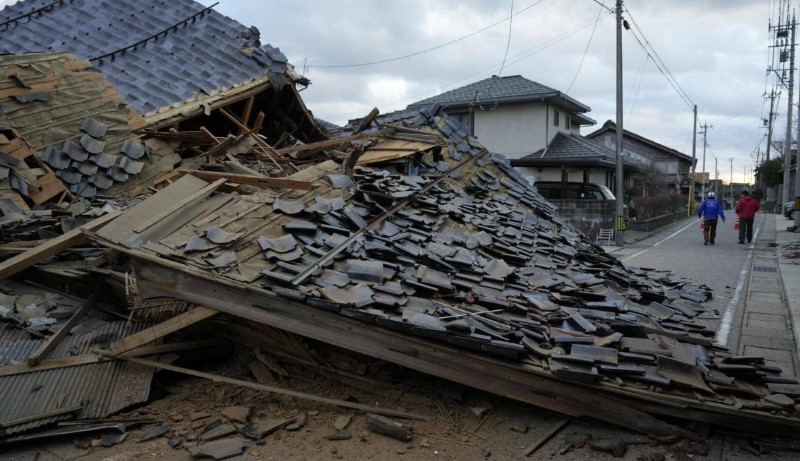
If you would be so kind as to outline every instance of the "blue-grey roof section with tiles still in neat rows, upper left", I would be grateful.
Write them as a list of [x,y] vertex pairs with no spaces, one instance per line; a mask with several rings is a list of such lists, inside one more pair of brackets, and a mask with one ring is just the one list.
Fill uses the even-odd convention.
[[286,56],[261,46],[257,29],[191,0],[26,0],[0,24],[0,53],[91,59],[142,114],[265,75],[287,82]]

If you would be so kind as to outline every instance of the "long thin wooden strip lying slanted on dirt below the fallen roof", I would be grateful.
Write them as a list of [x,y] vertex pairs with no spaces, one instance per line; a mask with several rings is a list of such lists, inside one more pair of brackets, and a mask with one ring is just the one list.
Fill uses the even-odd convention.
[[290,390],[290,389],[283,389],[283,388],[280,388],[280,387],[277,387],[277,386],[270,386],[270,385],[267,385],[267,384],[253,383],[253,382],[250,382],[250,381],[242,381],[241,379],[228,378],[227,376],[220,376],[220,375],[215,375],[215,374],[211,374],[211,373],[205,373],[205,372],[202,372],[202,371],[196,371],[196,370],[192,370],[192,369],[189,369],[189,368],[176,367],[174,365],[168,365],[166,363],[155,362],[155,361],[152,361],[152,360],[144,360],[144,359],[138,359],[138,358],[133,358],[133,357],[118,357],[118,358],[120,358],[122,360],[127,360],[129,362],[133,362],[133,363],[136,363],[136,364],[139,364],[139,365],[144,365],[144,366],[148,366],[148,367],[157,368],[159,370],[174,371],[176,373],[183,373],[183,374],[186,374],[186,375],[189,375],[189,376],[196,376],[198,378],[209,379],[209,380],[211,380],[211,381],[213,381],[215,383],[232,384],[234,386],[241,386],[241,387],[246,387],[246,388],[249,388],[249,389],[255,389],[255,390],[258,390],[258,391],[271,392],[273,394],[278,394],[278,395],[288,395],[288,396],[295,397],[295,398],[298,398],[298,399],[309,400],[311,402],[324,403],[326,405],[335,405],[337,407],[342,407],[342,408],[351,408],[353,410],[359,410],[359,411],[367,411],[367,412],[370,412],[370,413],[376,413],[376,414],[380,414],[380,415],[394,416],[396,418],[416,419],[418,421],[427,421],[428,420],[428,418],[426,416],[415,414],[415,413],[407,413],[405,411],[392,410],[392,409],[381,408],[381,407],[373,407],[372,405],[364,405],[362,403],[348,402],[346,400],[330,399],[330,398],[327,398],[327,397],[320,397],[318,395],[308,394],[308,393],[299,392],[299,391],[293,391],[293,390]]

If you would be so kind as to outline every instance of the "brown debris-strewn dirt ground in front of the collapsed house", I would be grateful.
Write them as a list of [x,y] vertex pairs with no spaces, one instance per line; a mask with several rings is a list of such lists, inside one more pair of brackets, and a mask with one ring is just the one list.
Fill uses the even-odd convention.
[[[250,366],[253,360],[252,353],[239,349],[232,357],[202,368],[255,382]],[[196,363],[194,367],[201,368]],[[706,442],[664,443],[607,424],[568,419],[380,362],[371,363],[367,369],[372,372],[363,375],[295,364],[283,364],[278,369],[284,370],[286,376],[271,374],[273,381],[269,385],[420,414],[427,420],[389,418],[413,430],[410,441],[400,441],[370,431],[368,416],[362,411],[159,372],[150,402],[110,418],[147,421],[129,426],[127,435],[101,431],[62,436],[0,446],[0,454],[9,461],[190,460],[193,448],[223,434],[218,441],[227,441],[242,452],[229,459],[242,461],[735,460],[755,459],[758,453],[771,453],[759,459],[796,459],[791,456],[796,453],[775,451],[775,447],[769,450],[724,434],[714,434]],[[241,434],[252,435],[253,425],[276,429],[255,439]],[[545,438],[550,433],[552,437]],[[154,438],[142,440],[148,436]],[[534,444],[538,448],[526,456]]]

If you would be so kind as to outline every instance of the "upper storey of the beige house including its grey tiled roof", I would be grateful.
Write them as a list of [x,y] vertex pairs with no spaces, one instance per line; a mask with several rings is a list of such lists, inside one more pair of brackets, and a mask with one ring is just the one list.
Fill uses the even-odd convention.
[[589,106],[521,75],[493,76],[408,106],[438,106],[458,119],[491,152],[510,159],[546,147],[557,133],[594,125]]

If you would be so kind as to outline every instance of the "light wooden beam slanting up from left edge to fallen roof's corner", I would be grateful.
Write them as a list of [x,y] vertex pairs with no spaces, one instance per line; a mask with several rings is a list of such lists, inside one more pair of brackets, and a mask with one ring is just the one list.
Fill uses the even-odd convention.
[[50,239],[47,242],[24,251],[12,258],[9,258],[0,263],[0,280],[5,280],[12,275],[27,269],[34,264],[38,264],[50,256],[61,253],[67,248],[75,245],[88,242],[88,238],[84,231],[95,231],[102,228],[106,224],[115,220],[123,213],[123,210],[113,211],[105,216],[101,216],[94,221],[88,222],[80,227],[76,227],[71,231],[60,235],[56,238]]

